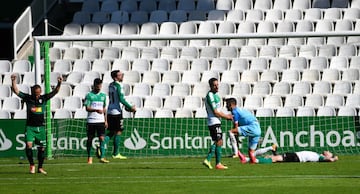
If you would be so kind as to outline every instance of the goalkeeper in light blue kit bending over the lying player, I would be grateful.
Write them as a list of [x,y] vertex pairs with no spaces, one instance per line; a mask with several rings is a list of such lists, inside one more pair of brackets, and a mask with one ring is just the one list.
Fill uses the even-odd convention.
[[[232,144],[237,144],[234,134],[248,137],[248,154],[250,158],[250,163],[256,163],[255,150],[257,148],[261,135],[259,121],[248,110],[240,109],[237,106],[235,98],[226,99],[226,108],[228,109],[228,111],[231,111],[232,115],[234,116],[234,126],[229,131],[229,136]],[[242,163],[246,163],[245,156],[240,151],[238,151],[238,156]]]

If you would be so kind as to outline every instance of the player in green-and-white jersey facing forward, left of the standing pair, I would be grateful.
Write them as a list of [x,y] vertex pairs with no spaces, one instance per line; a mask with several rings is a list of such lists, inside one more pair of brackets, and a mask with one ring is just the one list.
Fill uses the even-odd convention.
[[86,150],[88,155],[88,164],[92,164],[92,140],[95,138],[95,133],[99,137],[100,142],[100,162],[108,163],[105,158],[105,128],[107,128],[106,118],[106,94],[101,92],[102,80],[94,79],[93,89],[85,97],[85,108],[88,112],[87,116],[87,142]]

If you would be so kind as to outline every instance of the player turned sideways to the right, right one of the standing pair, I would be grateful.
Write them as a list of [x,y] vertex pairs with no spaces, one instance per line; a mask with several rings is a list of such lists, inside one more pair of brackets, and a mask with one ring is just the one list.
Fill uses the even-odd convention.
[[121,133],[124,131],[123,126],[123,110],[120,104],[131,112],[135,112],[135,106],[131,105],[125,100],[123,88],[120,85],[124,74],[119,70],[111,72],[111,78],[114,80],[109,84],[109,106],[107,110],[108,133],[105,137],[105,144],[114,137],[114,150],[112,157],[117,159],[126,159],[125,156],[119,153],[119,145],[121,140]]

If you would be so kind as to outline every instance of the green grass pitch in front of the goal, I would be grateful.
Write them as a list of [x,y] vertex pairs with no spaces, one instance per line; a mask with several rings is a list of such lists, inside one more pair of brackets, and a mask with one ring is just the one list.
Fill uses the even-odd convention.
[[[205,154],[204,154],[205,155]],[[336,193],[360,192],[360,155],[335,163],[240,164],[223,158],[228,170],[209,170],[203,158],[46,160],[48,175],[29,174],[27,160],[0,158],[0,193]],[[212,161],[214,163],[214,159]]]

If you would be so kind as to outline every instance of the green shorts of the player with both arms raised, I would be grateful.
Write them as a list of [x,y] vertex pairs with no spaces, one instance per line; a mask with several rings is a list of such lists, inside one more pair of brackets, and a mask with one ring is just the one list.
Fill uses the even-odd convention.
[[35,144],[45,147],[46,146],[46,131],[45,127],[32,127],[26,126],[25,128],[26,142],[35,142]]

